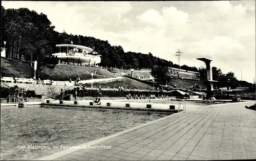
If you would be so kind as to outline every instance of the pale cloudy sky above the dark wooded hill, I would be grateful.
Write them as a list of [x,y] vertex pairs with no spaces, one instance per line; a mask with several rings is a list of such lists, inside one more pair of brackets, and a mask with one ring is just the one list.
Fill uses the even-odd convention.
[[[196,58],[238,80],[255,77],[255,1],[29,2],[2,1],[8,8],[44,13],[58,32],[93,36],[180,65],[205,67]],[[242,73],[242,75],[241,75]]]

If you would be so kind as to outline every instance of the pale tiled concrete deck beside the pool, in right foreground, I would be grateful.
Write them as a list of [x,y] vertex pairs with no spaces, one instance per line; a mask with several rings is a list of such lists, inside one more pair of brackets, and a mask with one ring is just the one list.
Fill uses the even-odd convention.
[[187,107],[186,113],[141,124],[40,160],[256,159],[255,101]]

